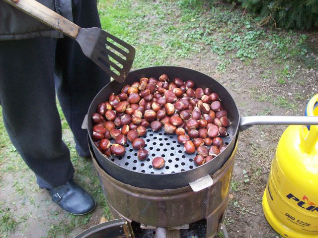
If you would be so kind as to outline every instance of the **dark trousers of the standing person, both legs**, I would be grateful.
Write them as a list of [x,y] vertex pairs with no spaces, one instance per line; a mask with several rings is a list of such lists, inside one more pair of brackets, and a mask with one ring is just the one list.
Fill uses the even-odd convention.
[[[95,0],[74,0],[73,17],[83,28],[100,27]],[[62,140],[56,95],[79,155],[88,156],[87,132],[81,123],[109,79],[70,38],[0,41],[4,125],[41,188],[62,185],[74,174],[70,151]]]

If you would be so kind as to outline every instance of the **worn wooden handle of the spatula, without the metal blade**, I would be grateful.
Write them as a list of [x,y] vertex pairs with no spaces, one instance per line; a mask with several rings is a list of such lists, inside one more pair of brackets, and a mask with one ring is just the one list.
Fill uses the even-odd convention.
[[75,39],[79,34],[80,27],[78,25],[36,0],[18,0],[18,2],[12,0],[4,1],[71,38]]

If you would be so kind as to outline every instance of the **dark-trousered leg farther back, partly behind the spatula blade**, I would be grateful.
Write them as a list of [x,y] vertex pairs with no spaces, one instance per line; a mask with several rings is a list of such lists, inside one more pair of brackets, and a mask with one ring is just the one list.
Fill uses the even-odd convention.
[[[74,23],[83,28],[101,27],[96,0],[73,0],[72,7]],[[93,98],[110,77],[70,38],[58,40],[56,64],[57,95],[74,134],[76,150],[80,156],[89,156],[87,132],[81,129],[81,124]]]

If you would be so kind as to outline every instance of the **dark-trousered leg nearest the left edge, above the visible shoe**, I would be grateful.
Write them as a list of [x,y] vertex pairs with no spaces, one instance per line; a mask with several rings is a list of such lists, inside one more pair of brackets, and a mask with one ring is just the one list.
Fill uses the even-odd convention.
[[41,188],[74,174],[56,107],[56,39],[0,41],[0,103],[9,137]]

